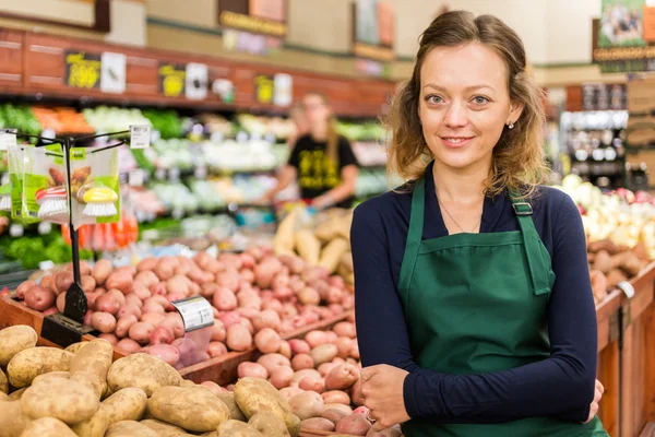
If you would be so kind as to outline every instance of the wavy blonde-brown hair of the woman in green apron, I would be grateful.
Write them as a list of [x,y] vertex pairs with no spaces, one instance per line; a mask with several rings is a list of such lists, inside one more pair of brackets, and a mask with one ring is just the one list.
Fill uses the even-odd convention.
[[393,98],[382,121],[391,131],[388,172],[404,180],[420,178],[433,160],[426,144],[418,117],[420,70],[428,52],[434,47],[456,47],[478,42],[493,49],[508,69],[510,99],[524,105],[513,129],[504,128],[493,149],[487,194],[501,194],[505,189],[532,197],[550,169],[543,147],[546,118],[541,104],[543,91],[536,85],[519,35],[492,15],[475,16],[465,11],[445,12],[432,21],[419,39],[419,49],[412,79]]

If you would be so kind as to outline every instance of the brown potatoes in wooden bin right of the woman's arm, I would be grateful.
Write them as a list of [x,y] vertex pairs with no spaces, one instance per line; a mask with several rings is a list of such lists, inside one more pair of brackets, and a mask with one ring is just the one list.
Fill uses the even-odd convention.
[[587,244],[590,279],[596,305],[624,281],[630,281],[646,268],[652,259],[643,244],[633,248],[618,246],[610,239]]

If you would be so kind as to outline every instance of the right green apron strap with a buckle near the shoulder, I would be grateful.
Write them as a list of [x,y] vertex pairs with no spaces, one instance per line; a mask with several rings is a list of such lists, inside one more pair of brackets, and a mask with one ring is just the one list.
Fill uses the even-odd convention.
[[550,292],[550,264],[545,257],[539,234],[535,228],[532,214],[533,209],[528,202],[519,199],[517,193],[510,194],[512,199],[512,208],[519,221],[519,227],[523,235],[523,246],[525,247],[525,256],[529,276],[532,280],[533,292],[536,295]]

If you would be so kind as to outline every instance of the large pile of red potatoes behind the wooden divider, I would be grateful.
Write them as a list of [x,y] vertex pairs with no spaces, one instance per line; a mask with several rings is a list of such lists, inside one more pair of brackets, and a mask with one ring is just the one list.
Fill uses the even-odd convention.
[[[46,274],[38,284],[22,283],[17,298],[45,314],[63,311],[71,270],[69,265]],[[286,334],[342,315],[355,303],[341,276],[297,256],[276,257],[263,247],[217,258],[206,252],[193,259],[147,258],[136,267],[118,269],[107,260],[93,268],[83,262],[81,272],[88,302],[84,322],[126,354],[145,352],[171,366],[178,365],[188,345],[174,300],[202,295],[213,305],[211,343],[201,361],[254,346],[285,353]]]

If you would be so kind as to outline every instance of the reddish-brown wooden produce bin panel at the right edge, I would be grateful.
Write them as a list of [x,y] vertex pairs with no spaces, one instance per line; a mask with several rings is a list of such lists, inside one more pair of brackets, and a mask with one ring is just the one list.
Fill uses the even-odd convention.
[[655,421],[655,262],[630,283],[634,296],[621,307],[621,437]]

